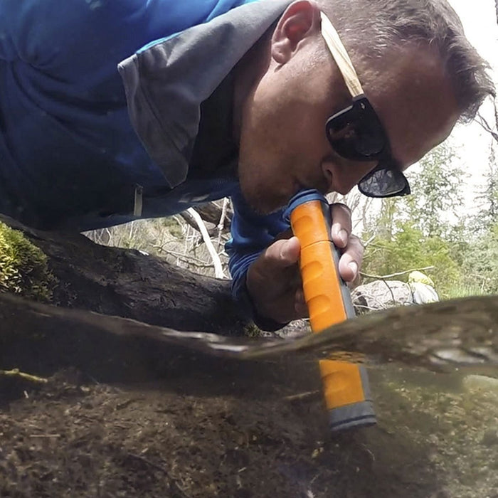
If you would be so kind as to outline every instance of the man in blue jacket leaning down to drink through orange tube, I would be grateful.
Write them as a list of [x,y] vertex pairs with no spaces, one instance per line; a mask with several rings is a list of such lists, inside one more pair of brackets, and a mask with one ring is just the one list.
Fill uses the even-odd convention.
[[[322,12],[371,105],[327,133],[351,92]],[[235,298],[280,327],[305,306],[279,210],[303,188],[403,179],[494,92],[485,68],[443,0],[4,0],[0,211],[83,231],[231,196]],[[351,155],[366,121],[380,152]],[[361,244],[344,206],[332,216],[353,280]]]

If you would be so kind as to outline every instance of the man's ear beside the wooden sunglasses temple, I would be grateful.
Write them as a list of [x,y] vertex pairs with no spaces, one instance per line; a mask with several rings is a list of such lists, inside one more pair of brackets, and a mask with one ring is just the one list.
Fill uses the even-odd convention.
[[280,17],[272,36],[272,58],[285,64],[300,47],[300,42],[317,33],[321,26],[320,9],[313,1],[297,0]]

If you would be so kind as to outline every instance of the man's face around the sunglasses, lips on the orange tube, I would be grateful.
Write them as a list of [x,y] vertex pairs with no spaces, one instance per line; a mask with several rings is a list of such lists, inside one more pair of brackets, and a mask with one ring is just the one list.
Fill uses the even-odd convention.
[[[284,64],[271,60],[243,107],[240,186],[260,213],[285,206],[303,188],[346,194],[376,166],[344,159],[330,146],[325,122],[351,97],[332,56],[310,62],[313,43],[319,41],[302,43]],[[428,47],[393,51],[360,79],[403,169],[442,142],[457,120],[450,82]]]

